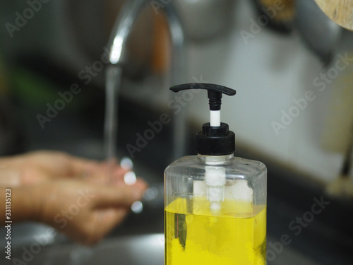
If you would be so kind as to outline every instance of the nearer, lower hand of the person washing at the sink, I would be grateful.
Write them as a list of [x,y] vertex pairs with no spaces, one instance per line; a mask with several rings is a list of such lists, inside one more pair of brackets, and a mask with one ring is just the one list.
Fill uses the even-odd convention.
[[21,205],[23,210],[13,209],[13,219],[36,220],[71,240],[92,245],[121,223],[146,187],[141,179],[132,186],[119,187],[76,179],[22,186],[13,190],[13,205]]

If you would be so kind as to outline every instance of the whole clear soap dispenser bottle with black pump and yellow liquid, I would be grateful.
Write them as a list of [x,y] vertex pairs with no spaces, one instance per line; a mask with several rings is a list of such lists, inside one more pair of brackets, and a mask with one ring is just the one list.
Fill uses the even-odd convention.
[[208,90],[210,123],[196,134],[197,155],[164,170],[165,265],[266,264],[266,184],[263,163],[234,157],[234,133],[220,122],[222,94],[209,83],[174,86]]

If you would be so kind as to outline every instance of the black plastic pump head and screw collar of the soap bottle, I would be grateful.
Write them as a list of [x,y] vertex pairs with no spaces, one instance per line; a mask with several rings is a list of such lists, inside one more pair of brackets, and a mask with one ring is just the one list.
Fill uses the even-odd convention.
[[[235,95],[236,91],[225,86],[210,83],[186,83],[170,88],[173,92],[188,89],[208,90],[210,110],[220,110],[222,94]],[[201,155],[228,155],[235,151],[235,135],[229,131],[228,124],[210,126],[205,123],[202,130],[196,134],[196,152]]]

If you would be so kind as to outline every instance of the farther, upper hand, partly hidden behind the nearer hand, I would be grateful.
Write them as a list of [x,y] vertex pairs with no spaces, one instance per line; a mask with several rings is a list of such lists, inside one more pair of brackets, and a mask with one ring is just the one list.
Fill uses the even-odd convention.
[[0,185],[12,187],[61,178],[119,184],[127,171],[114,161],[98,163],[54,151],[35,151],[1,158],[0,166]]

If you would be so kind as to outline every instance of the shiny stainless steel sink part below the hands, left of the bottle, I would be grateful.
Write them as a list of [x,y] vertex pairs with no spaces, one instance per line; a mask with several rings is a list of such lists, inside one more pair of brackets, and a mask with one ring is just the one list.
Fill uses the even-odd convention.
[[31,257],[25,249],[18,249],[12,259],[17,258],[31,265],[162,265],[164,264],[164,235],[117,237],[103,240],[95,247],[66,243],[44,247],[37,254],[35,253],[37,251],[32,252]]

